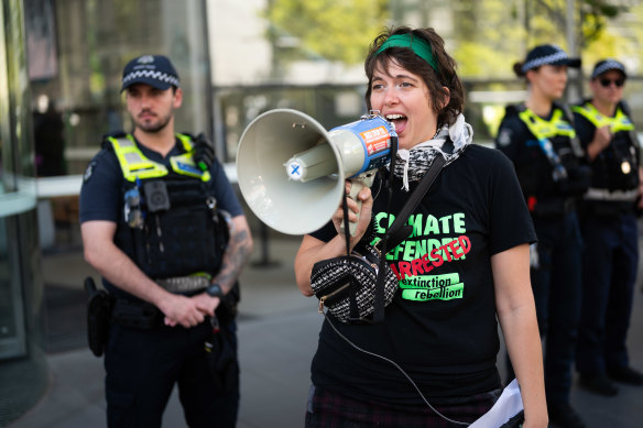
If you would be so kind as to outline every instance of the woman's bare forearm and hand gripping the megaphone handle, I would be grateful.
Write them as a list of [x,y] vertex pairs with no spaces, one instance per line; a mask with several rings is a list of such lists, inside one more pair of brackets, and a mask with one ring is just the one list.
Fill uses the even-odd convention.
[[[349,190],[350,186],[347,187],[347,191]],[[373,207],[373,198],[370,188],[364,187],[358,197],[362,201],[362,205],[356,233],[350,239],[351,249],[366,233],[371,221],[371,210]],[[357,221],[356,212],[358,211],[358,206],[350,198],[348,199],[348,211],[349,221]],[[335,229],[339,231],[339,227],[344,222],[344,209],[341,206],[335,211],[333,222],[335,223]],[[319,241],[308,234],[304,235],[297,255],[295,256],[295,279],[297,282],[297,287],[299,287],[299,290],[304,296],[312,296],[314,294],[313,288],[310,288],[310,273],[313,272],[313,265],[322,260],[337,257],[342,254],[346,254],[346,241],[344,234],[339,232],[328,242]]]

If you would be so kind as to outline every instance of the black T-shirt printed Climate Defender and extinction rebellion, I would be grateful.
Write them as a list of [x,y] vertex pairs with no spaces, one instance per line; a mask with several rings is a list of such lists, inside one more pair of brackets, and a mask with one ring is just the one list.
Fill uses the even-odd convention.
[[[401,180],[393,186],[396,215],[417,183],[408,193],[401,190]],[[385,195],[380,191],[373,206],[380,233],[386,224]],[[383,323],[346,325],[330,316],[334,326],[358,347],[400,364],[427,397],[499,388],[490,257],[536,240],[513,165],[499,151],[471,144],[444,167],[408,223],[413,234],[388,256],[400,286]],[[329,223],[312,235],[327,242],[335,234]],[[327,320],[312,380],[349,396],[423,404],[397,369],[352,348]]]

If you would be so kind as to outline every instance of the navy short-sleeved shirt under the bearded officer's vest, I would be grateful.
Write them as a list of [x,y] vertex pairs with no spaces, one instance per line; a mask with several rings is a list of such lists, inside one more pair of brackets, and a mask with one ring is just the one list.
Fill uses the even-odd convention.
[[[170,153],[163,157],[161,153],[145,147],[137,142],[137,146],[148,158],[162,163],[168,171],[172,168],[170,158],[185,153],[183,144],[177,140]],[[226,176],[222,165],[215,158],[210,167],[209,185],[214,189],[217,205],[228,211],[232,217],[242,215],[241,205],[235,195],[235,190]],[[121,166],[111,146],[102,149],[90,161],[80,188],[80,223],[91,220],[112,221],[120,227],[124,226],[124,197],[123,177]],[[120,288],[115,287],[103,278],[106,288],[112,293],[124,295]],[[127,295],[129,298],[133,296]]]

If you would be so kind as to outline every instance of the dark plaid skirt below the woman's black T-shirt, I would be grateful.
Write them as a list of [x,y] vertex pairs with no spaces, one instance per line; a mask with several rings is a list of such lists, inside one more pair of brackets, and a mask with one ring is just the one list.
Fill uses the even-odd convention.
[[407,427],[455,428],[465,427],[484,415],[498,400],[502,389],[469,397],[440,398],[428,406],[383,404],[347,397],[335,391],[310,386],[306,427],[359,428]]

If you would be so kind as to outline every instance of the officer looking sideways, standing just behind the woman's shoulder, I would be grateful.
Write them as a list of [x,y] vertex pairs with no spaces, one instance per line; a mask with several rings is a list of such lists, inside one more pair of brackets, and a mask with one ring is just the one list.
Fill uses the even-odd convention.
[[[557,102],[567,67],[579,67],[555,45],[530,51],[514,73],[527,81],[524,103],[509,106],[495,145],[511,158],[536,229],[531,279],[545,340],[545,392],[549,420],[585,427],[569,402],[580,315],[581,239],[577,204],[589,186],[589,167],[576,138],[573,114]],[[510,376],[512,376],[510,366]]]

